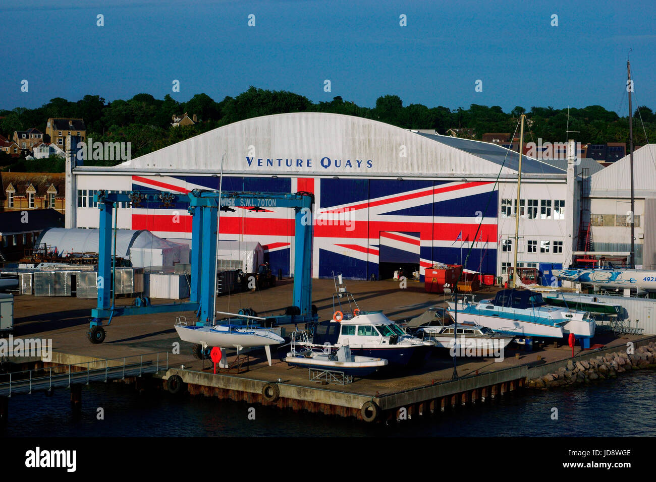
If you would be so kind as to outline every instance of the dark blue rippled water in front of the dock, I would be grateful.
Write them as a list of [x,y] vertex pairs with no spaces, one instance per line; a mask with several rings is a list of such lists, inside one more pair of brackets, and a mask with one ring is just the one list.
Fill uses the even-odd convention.
[[[9,400],[9,437],[109,436],[655,436],[656,372],[639,371],[573,390],[528,392],[430,418],[365,424],[319,414],[255,407],[209,397],[139,394],[121,384],[92,384],[79,415],[70,392],[16,395]],[[104,409],[104,420],[96,409]],[[552,408],[558,420],[552,420]]]

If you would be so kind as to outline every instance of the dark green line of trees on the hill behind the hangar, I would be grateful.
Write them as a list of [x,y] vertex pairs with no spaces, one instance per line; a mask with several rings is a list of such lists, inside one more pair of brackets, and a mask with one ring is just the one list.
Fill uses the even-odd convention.
[[[361,107],[336,96],[329,102],[312,102],[307,97],[284,90],[264,90],[250,87],[236,97],[226,96],[216,102],[207,94],[196,94],[187,102],[178,102],[169,94],[156,99],[151,94],[136,94],[129,100],[106,102],[98,95],[85,95],[72,102],[54,98],[35,109],[15,108],[0,110],[0,134],[13,135],[35,127],[45,133],[49,117],[82,118],[87,126],[87,138],[100,142],[131,142],[132,156],[138,157],[159,150],[175,142],[196,136],[233,122],[288,112],[331,112],[374,119],[404,129],[435,129],[446,134],[449,129],[462,129],[459,136],[481,139],[485,132],[515,132],[522,113],[529,119],[525,140],[542,138],[544,142],[564,142],[565,131],[575,134],[582,144],[626,142],[628,148],[628,116],[621,117],[602,106],[554,109],[536,107],[525,110],[517,106],[504,112],[499,106],[471,104],[468,109],[422,104],[403,106],[397,95],[380,96],[373,108]],[[199,122],[190,126],[171,126],[171,115],[187,112],[196,114]],[[644,129],[642,124],[644,123]],[[634,144],[646,144],[647,138],[656,138],[656,113],[647,106],[634,111]],[[0,166],[12,171],[62,172],[61,159],[43,159],[39,162],[9,159],[0,153]],[[117,161],[87,161],[86,165],[114,165]]]

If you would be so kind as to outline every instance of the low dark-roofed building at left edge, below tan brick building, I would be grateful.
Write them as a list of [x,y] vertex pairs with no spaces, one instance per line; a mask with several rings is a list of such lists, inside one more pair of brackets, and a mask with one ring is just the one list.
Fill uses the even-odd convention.
[[41,231],[63,227],[64,214],[54,209],[0,212],[0,261],[20,260]]

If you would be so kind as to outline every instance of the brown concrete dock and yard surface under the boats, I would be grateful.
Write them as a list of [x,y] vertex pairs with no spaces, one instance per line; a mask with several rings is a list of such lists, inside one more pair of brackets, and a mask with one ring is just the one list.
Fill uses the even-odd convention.
[[[313,285],[313,303],[318,306],[319,319],[327,319],[333,313],[333,281],[314,280]],[[418,315],[430,306],[443,303],[446,298],[426,293],[422,284],[412,282],[408,283],[407,289],[400,289],[394,281],[349,281],[348,289],[361,309],[383,310],[394,320]],[[291,280],[283,280],[265,291],[222,296],[217,298],[216,310],[236,312],[239,308],[253,308],[259,315],[281,313],[291,300],[291,290]],[[493,293],[491,289],[480,292],[489,297]],[[131,304],[132,301],[131,298],[119,298],[117,304]],[[155,304],[160,302],[170,300],[154,300]],[[384,420],[398,417],[403,410],[412,416],[487,401],[522,388],[525,380],[558,369],[559,364],[565,364],[571,358],[571,348],[564,342],[559,346],[552,343],[534,348],[533,351],[509,347],[503,361],[459,358],[458,378],[453,380],[453,359],[444,354],[430,357],[421,369],[388,369],[341,385],[311,381],[307,369],[289,367],[275,354],[274,364],[269,367],[262,352],[249,355],[247,371],[214,374],[211,362],[195,359],[191,345],[180,342],[173,328],[177,316],[186,316],[192,323],[194,313],[116,317],[105,327],[106,341],[91,344],[87,331],[94,304],[95,300],[77,298],[16,296],[14,337],[51,339],[53,352],[50,363],[30,361],[20,369],[59,367],[60,371],[66,371],[65,367],[69,365],[80,370],[86,367],[98,369],[104,366],[103,363],[110,365],[103,362],[106,359],[112,359],[110,366],[115,366],[120,364],[121,357],[134,361],[142,355],[146,358],[155,356],[146,353],[158,353],[159,369],[144,376],[152,377],[151,382],[161,384],[169,391],[173,387],[173,391],[192,395],[354,416],[361,420]],[[287,327],[288,332],[293,329],[293,326]],[[576,346],[575,355],[577,359],[585,359],[604,351],[622,350],[629,341],[637,348],[651,340],[653,337],[638,335],[600,335],[594,343],[603,345],[603,349],[582,351]],[[178,343],[179,354],[173,352]],[[230,352],[228,355],[232,361],[234,356],[230,356]],[[89,363],[91,361],[96,363]],[[68,370],[72,369],[69,367]],[[143,384],[139,383],[139,386]]]

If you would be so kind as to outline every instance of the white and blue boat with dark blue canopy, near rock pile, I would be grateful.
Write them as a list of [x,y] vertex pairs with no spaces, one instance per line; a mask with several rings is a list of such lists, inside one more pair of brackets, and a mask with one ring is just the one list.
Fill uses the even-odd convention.
[[550,306],[542,294],[530,290],[504,289],[492,300],[478,303],[448,303],[447,313],[458,323],[482,325],[515,337],[562,338],[573,333],[584,344],[594,336],[595,322],[584,311]]

